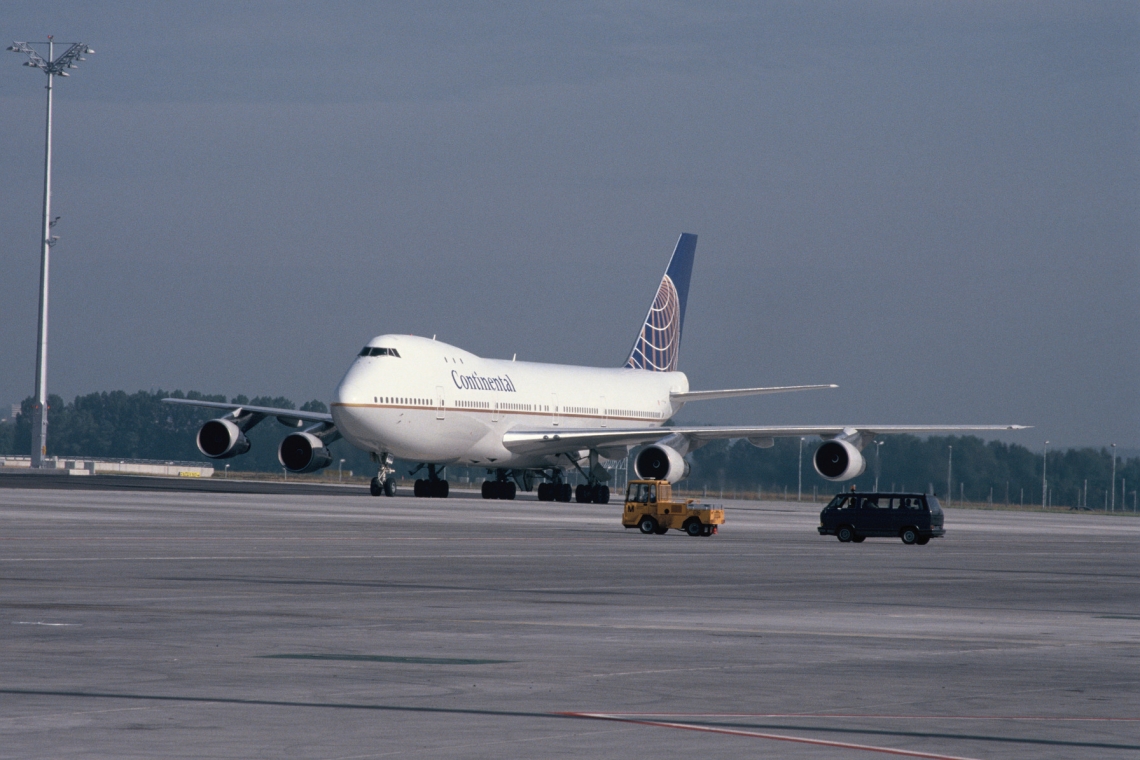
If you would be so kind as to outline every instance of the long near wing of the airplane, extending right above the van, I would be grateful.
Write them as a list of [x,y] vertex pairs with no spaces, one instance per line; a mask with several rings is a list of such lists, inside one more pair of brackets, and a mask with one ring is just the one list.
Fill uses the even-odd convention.
[[762,425],[751,427],[697,426],[641,427],[636,430],[592,428],[560,431],[514,430],[503,436],[503,446],[515,453],[562,453],[579,449],[614,449],[622,446],[653,443],[665,438],[687,439],[695,449],[709,441],[747,438],[766,448],[777,438],[820,435],[824,438],[873,438],[880,433],[969,433],[983,431],[1025,430],[1027,425]]

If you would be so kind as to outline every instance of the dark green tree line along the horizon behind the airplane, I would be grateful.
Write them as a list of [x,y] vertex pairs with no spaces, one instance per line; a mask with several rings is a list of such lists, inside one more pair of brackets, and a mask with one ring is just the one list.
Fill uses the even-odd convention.
[[[164,398],[226,401],[223,395],[190,391],[113,391],[89,393],[65,402],[58,395],[49,399],[48,456],[158,459],[203,461],[195,446],[198,427],[217,415],[215,410],[181,404],[162,403]],[[298,407],[286,398],[243,395],[229,399],[231,403],[250,403],[280,409]],[[27,455],[32,446],[33,399],[25,399],[22,412],[15,420],[0,424],[0,452]],[[319,400],[300,407],[303,411],[327,411]],[[214,461],[215,466],[230,464],[234,469],[280,472],[277,446],[290,428],[275,419],[263,420],[252,431],[249,453]],[[887,435],[879,443],[866,447],[866,472],[855,479],[856,488],[870,490],[878,475],[880,490],[927,491],[934,489],[945,498],[947,476],[952,501],[990,501],[995,504],[1040,505],[1042,497],[1041,453],[1017,443],[983,441],[972,435],[929,436]],[[735,491],[766,493],[788,490],[795,497],[803,473],[804,493],[813,489],[820,495],[834,493],[840,485],[824,481],[812,467],[812,455],[822,441],[805,440],[803,449],[798,439],[776,439],[775,446],[759,449],[744,440],[716,441],[690,456],[692,473],[684,482],[686,490],[711,492]],[[951,447],[953,461],[951,463]],[[366,452],[345,441],[329,447],[333,468],[344,459],[344,469],[370,475],[375,465]],[[1107,449],[1060,449],[1048,455],[1049,502],[1054,506],[1075,507],[1088,504],[1102,508],[1112,481],[1112,455]],[[398,463],[400,474],[409,465]],[[632,467],[630,467],[632,472]],[[1124,482],[1122,484],[1122,481]],[[1122,497],[1122,485],[1127,489]],[[1133,491],[1140,487],[1140,458],[1116,461],[1116,506],[1133,506]]]

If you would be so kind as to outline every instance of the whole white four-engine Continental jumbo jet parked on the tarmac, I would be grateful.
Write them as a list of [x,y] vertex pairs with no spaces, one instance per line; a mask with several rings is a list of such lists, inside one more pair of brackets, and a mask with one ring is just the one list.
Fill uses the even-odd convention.
[[370,452],[377,464],[373,496],[393,496],[393,457],[426,469],[415,495],[446,497],[447,466],[486,467],[483,498],[513,499],[518,489],[538,484],[542,500],[569,501],[568,469],[586,483],[578,501],[605,504],[609,473],[602,459],[634,459],[638,477],[677,482],[689,474],[685,455],[716,439],[748,439],[768,448],[781,436],[817,435],[824,443],[813,457],[829,481],[858,476],[866,467],[861,450],[885,433],[1021,430],[1023,425],[796,425],[670,426],[682,407],[763,393],[833,389],[789,385],[722,391],[690,391],[677,371],[689,280],[697,236],[684,234],[669,260],[629,358],[622,367],[576,367],[484,359],[434,338],[380,335],[368,341],[336,387],[331,414],[237,403],[165,399],[169,403],[226,409],[202,425],[198,450],[225,459],[245,453],[245,433],[267,417],[291,427],[278,448],[282,465],[294,473],[328,466],[328,444],[344,438]]

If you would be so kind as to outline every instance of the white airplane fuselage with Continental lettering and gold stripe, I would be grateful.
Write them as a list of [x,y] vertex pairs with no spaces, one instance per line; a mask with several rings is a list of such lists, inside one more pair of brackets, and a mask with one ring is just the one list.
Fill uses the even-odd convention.
[[409,461],[564,465],[510,451],[504,433],[660,427],[682,406],[670,392],[689,391],[679,371],[483,359],[410,335],[381,335],[361,353],[368,349],[390,352],[357,357],[336,389],[333,419],[352,446]]

